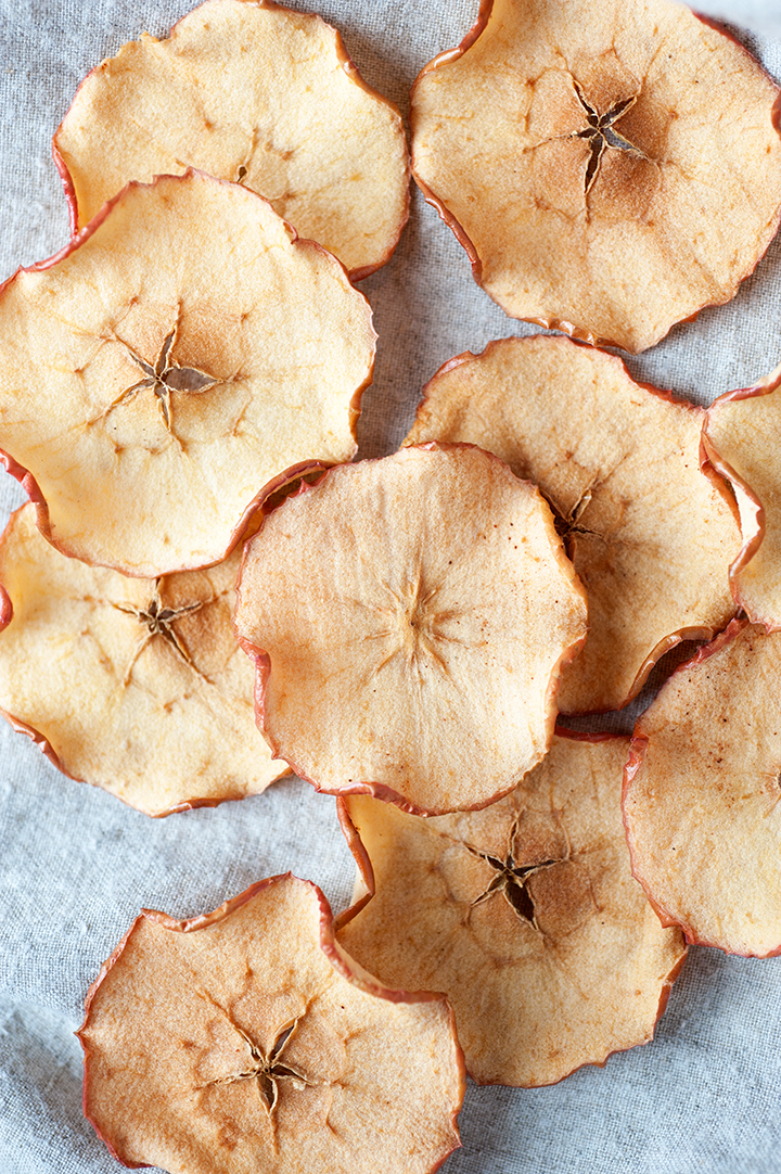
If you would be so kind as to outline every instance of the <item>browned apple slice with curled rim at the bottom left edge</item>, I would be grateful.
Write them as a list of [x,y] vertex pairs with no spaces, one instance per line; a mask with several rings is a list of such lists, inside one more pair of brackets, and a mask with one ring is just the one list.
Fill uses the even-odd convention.
[[85,1112],[127,1166],[429,1174],[458,1146],[447,1003],[356,966],[289,873],[189,922],[144,910],[79,1037]]

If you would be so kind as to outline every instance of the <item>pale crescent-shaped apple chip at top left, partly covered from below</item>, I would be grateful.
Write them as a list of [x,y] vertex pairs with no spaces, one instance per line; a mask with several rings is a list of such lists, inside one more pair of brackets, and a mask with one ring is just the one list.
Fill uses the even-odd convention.
[[208,0],[168,40],[124,45],[81,83],[54,136],[74,228],[128,180],[197,167],[265,196],[355,278],[408,215],[404,127],[318,16]]

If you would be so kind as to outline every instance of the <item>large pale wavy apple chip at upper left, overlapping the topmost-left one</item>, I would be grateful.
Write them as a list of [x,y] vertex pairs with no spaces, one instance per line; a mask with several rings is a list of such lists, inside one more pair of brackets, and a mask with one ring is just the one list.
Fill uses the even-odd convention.
[[132,183],[0,295],[0,448],[66,554],[225,556],[283,470],[355,452],[365,299],[238,184]]

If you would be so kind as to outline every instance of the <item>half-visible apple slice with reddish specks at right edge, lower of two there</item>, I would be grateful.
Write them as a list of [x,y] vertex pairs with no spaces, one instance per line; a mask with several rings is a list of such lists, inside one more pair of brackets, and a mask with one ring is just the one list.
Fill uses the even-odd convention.
[[781,953],[781,634],[746,621],[676,670],[626,770],[632,870],[689,942]]

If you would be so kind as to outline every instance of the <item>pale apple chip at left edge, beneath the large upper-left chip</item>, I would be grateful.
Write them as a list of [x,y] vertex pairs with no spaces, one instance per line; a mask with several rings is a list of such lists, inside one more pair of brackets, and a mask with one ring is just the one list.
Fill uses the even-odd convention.
[[0,709],[60,770],[148,815],[265,790],[288,767],[255,728],[237,572],[238,552],[157,580],[88,567],[23,506],[0,540]]

